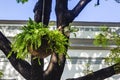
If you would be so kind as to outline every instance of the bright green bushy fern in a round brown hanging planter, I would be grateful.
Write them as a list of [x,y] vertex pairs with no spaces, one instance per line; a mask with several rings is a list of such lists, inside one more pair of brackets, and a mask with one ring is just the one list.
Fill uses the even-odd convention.
[[11,45],[12,50],[8,57],[17,54],[17,58],[25,59],[29,54],[35,57],[45,58],[52,53],[66,54],[65,46],[68,39],[58,30],[49,30],[42,23],[36,23],[29,19],[22,32],[17,34]]

